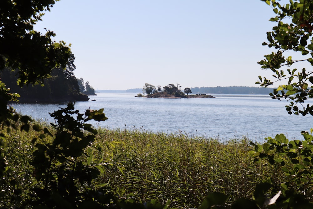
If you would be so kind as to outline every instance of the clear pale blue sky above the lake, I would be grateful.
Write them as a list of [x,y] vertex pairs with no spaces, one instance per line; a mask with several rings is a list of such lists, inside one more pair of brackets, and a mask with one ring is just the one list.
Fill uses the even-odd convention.
[[34,28],[71,44],[95,90],[258,86],[273,16],[260,0],[60,0]]

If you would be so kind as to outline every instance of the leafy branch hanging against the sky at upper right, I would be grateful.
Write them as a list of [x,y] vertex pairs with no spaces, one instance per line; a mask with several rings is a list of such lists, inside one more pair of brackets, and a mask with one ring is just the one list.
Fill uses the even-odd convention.
[[[259,76],[256,82],[261,86],[267,87],[276,82],[285,82],[270,93],[273,99],[288,98],[289,105],[286,110],[289,114],[303,116],[313,115],[313,106],[302,103],[307,98],[313,97],[313,2],[308,0],[292,1],[285,5],[275,0],[262,0],[269,4],[275,17],[270,21],[277,25],[273,30],[267,32],[267,45],[275,51],[265,55],[265,59],[258,63],[262,69],[270,69],[274,72],[273,81]],[[291,68],[301,64],[300,69]],[[308,65],[310,70],[303,68]],[[311,66],[310,66],[311,65]]]

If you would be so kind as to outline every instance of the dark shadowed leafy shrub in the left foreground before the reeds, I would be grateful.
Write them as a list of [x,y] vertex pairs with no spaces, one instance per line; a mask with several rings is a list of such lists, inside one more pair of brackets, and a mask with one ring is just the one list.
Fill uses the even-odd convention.
[[[32,153],[29,153],[32,157],[21,156],[26,167],[23,166],[23,171],[18,173],[28,176],[28,182],[25,185],[21,180],[10,179],[9,175],[6,176],[7,182],[5,178],[2,182],[3,186],[7,183],[13,186],[13,191],[18,191],[14,193],[12,208],[39,205],[42,208],[86,208],[86,205],[91,204],[90,201],[94,207],[110,203],[110,199],[105,198],[104,188],[91,184],[104,169],[105,164],[91,160],[93,156],[91,145],[97,131],[85,123],[91,119],[106,120],[102,111],[103,109],[86,110],[84,115],[74,110],[74,103],[68,103],[66,108],[50,113],[57,122],[51,124],[54,133],[48,128],[42,129],[37,124],[33,125],[32,128],[38,132],[38,137],[31,140],[31,143],[35,144],[31,149]],[[14,156],[7,152],[6,155],[11,160]],[[79,158],[82,155],[89,156],[88,160],[81,161]],[[11,172],[13,177],[18,177],[12,170],[14,163],[16,162],[11,161],[12,167],[8,173]]]

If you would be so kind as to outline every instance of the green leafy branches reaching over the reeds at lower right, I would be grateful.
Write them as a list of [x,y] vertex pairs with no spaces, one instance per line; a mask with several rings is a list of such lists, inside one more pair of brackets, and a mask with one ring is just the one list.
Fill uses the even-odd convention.
[[[311,129],[312,134],[313,129]],[[278,134],[275,138],[266,138],[267,142],[262,146],[253,144],[254,161],[267,159],[269,164],[278,165],[287,176],[284,181],[278,180],[278,185],[287,190],[294,188],[301,194],[311,196],[313,194],[313,137],[307,132],[302,132],[304,141],[289,141],[284,134]]]

